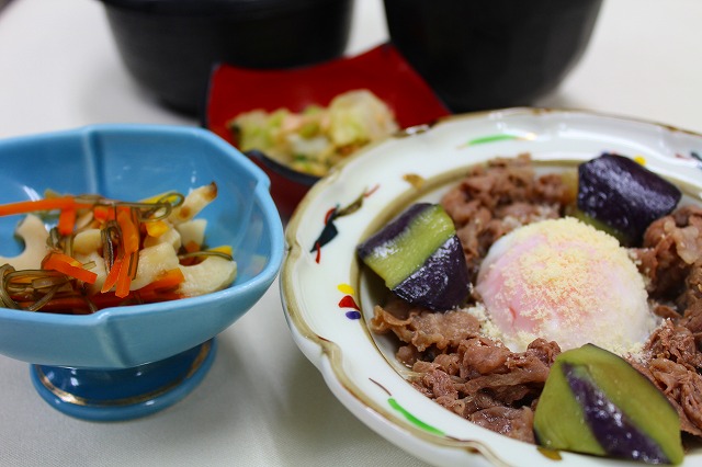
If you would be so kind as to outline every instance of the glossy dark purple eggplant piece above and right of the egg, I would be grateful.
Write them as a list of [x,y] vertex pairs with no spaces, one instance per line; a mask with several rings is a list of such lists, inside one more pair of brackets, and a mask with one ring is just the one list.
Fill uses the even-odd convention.
[[676,185],[624,156],[603,153],[578,168],[578,209],[614,229],[627,247],[641,244],[650,223],[670,214],[681,196]]

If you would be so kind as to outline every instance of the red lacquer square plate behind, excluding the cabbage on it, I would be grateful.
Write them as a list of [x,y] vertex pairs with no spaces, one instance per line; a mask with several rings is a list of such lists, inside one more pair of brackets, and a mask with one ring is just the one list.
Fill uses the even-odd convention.
[[[429,124],[450,114],[395,47],[382,44],[361,55],[304,68],[254,70],[219,64],[210,79],[203,126],[236,146],[227,122],[242,112],[280,107],[301,112],[310,104],[326,106],[336,95],[353,89],[367,89],[382,99],[401,128]],[[261,152],[251,151],[248,156],[271,179],[271,194],[284,219],[319,180]]]

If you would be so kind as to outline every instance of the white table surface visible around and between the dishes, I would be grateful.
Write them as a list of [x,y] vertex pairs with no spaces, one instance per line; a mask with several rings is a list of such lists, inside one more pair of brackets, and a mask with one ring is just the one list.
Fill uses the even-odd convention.
[[[349,53],[386,39],[382,0],[356,0],[354,14]],[[605,0],[580,64],[535,104],[702,132],[701,24],[699,0]],[[93,123],[197,125],[132,81],[99,1],[12,0],[0,10],[0,137]],[[218,343],[190,396],[120,423],[59,413],[29,364],[0,356],[0,465],[423,465],[331,395],[290,335],[278,283]],[[262,345],[275,357],[251,352]]]

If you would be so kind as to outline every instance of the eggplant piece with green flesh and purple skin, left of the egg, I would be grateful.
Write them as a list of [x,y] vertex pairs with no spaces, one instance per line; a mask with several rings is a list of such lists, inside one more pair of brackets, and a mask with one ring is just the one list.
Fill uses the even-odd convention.
[[356,252],[393,293],[412,305],[448,310],[468,296],[463,247],[441,205],[411,205]]

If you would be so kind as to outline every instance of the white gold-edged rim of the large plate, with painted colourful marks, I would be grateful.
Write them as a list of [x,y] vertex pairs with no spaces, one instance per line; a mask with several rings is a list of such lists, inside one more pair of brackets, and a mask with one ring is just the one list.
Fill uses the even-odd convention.
[[[499,435],[414,389],[388,340],[366,324],[377,299],[355,246],[401,208],[438,201],[475,163],[530,152],[541,164],[604,150],[641,157],[700,201],[702,136],[668,126],[577,111],[508,109],[441,118],[346,161],[316,184],[286,229],[282,299],[293,338],[336,397],[388,441],[435,465],[638,465],[561,453]],[[702,463],[702,452],[684,465]]]

